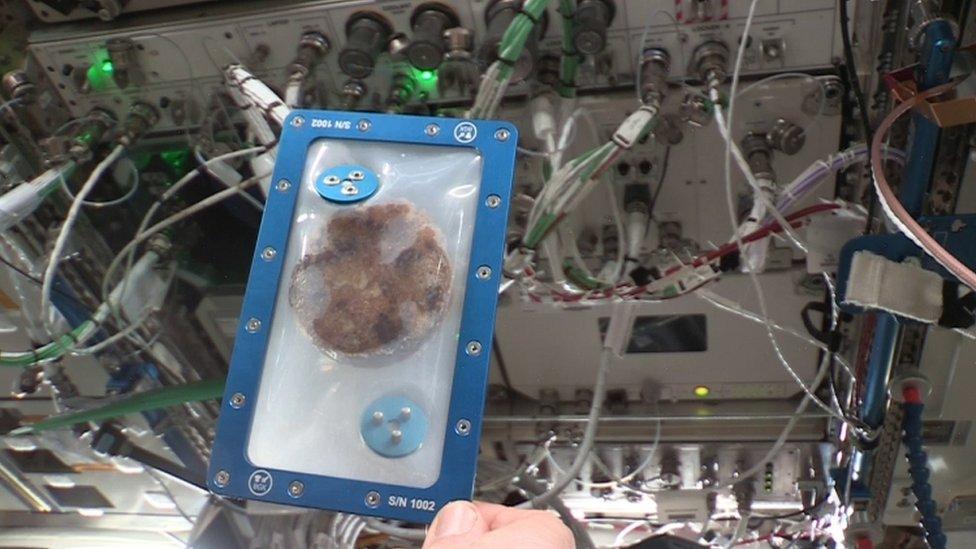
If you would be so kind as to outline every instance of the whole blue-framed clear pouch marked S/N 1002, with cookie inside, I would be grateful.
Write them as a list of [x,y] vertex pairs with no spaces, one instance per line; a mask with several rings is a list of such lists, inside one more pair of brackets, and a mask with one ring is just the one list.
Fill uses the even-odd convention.
[[430,520],[470,497],[514,130],[314,111],[290,121],[211,488]]

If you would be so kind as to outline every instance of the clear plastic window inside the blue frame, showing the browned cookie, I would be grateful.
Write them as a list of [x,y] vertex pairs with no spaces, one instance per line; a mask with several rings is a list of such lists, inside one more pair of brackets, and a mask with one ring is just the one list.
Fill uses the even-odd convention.
[[[337,166],[375,174],[378,190],[322,198],[316,182]],[[310,146],[248,441],[255,466],[436,482],[481,171],[467,148]]]

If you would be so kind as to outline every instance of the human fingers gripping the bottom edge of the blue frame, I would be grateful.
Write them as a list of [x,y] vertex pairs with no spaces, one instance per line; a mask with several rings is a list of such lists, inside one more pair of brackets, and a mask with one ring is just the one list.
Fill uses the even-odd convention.
[[423,549],[573,549],[573,534],[547,511],[455,501],[431,524]]

